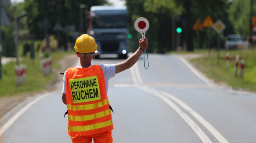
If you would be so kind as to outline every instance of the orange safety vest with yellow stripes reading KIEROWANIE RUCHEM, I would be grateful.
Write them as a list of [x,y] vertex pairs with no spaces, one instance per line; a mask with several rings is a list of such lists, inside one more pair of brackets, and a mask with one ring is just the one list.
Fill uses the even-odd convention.
[[86,136],[113,129],[100,65],[89,68],[68,68],[66,98],[69,136]]

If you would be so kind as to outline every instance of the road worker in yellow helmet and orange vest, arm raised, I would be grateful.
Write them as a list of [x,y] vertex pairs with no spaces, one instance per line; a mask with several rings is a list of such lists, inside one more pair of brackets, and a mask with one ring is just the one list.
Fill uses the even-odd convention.
[[74,46],[80,65],[68,68],[63,77],[62,101],[68,108],[68,133],[72,143],[112,143],[112,115],[108,103],[108,80],[132,67],[148,48],[148,39],[139,40],[139,48],[124,62],[91,65],[100,54],[94,38],[84,34]]

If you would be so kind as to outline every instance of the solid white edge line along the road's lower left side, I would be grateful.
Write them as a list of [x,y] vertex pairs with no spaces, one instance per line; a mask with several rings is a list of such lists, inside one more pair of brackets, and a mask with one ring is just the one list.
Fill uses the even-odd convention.
[[49,94],[41,95],[32,100],[31,102],[27,103],[23,108],[21,108],[12,118],[10,118],[1,128],[0,128],[0,136],[25,112],[29,109],[32,105],[34,105],[37,101],[41,100],[42,98],[48,96]]

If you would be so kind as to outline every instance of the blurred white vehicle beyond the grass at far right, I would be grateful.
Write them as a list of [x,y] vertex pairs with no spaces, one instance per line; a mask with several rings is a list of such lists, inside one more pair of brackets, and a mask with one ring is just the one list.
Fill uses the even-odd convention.
[[226,50],[244,48],[244,42],[242,41],[241,35],[239,35],[239,34],[227,35],[225,47],[226,47]]

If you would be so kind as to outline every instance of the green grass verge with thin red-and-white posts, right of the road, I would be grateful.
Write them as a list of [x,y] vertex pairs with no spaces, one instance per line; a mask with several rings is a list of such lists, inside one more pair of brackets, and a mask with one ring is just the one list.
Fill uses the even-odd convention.
[[[197,52],[195,52],[197,53]],[[208,55],[208,51],[200,52]],[[215,81],[222,81],[229,86],[237,89],[242,88],[248,91],[256,91],[256,51],[255,50],[234,50],[228,51],[229,53],[229,67],[226,69],[226,56],[227,51],[220,51],[220,58],[218,64],[218,53],[211,51],[211,56],[196,58],[191,60],[201,71],[208,77]],[[239,55],[240,60],[245,60],[244,77],[241,78],[240,65],[238,67],[237,76],[234,76],[235,57]],[[240,63],[240,61],[239,61]]]

